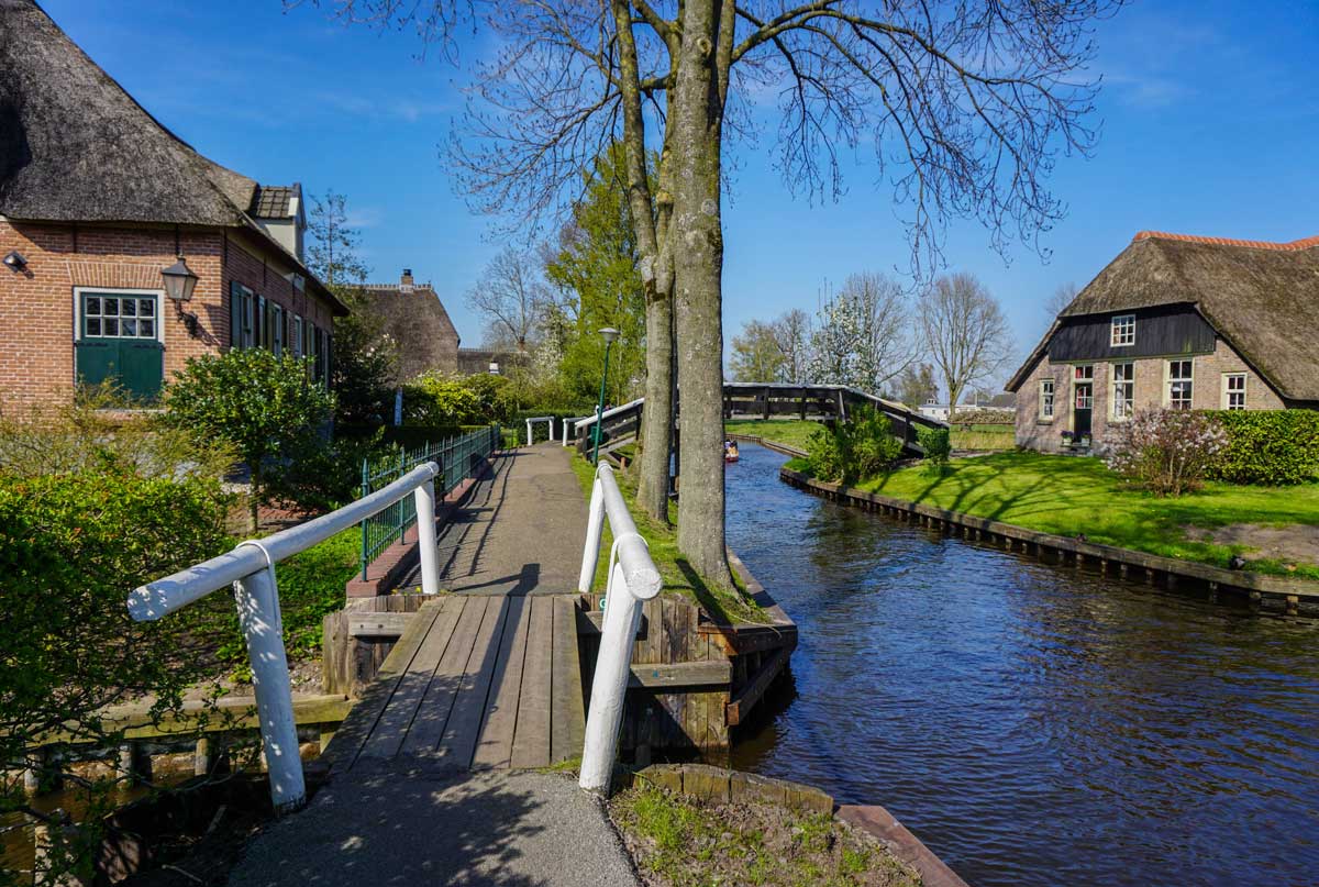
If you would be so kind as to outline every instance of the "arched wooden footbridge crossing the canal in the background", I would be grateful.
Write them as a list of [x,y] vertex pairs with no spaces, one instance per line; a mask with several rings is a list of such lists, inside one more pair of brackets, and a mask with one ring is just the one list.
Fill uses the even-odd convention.
[[[902,441],[904,451],[907,455],[925,454],[925,449],[917,438],[917,429],[948,426],[947,422],[923,416],[906,404],[877,397],[847,385],[798,385],[778,381],[724,383],[724,418],[847,420],[852,412],[861,407],[871,407],[889,418],[893,424],[893,434]],[[607,444],[601,446],[601,451],[624,446],[636,440],[641,430],[644,408],[645,397],[638,397],[605,411],[604,437],[601,440]],[[594,424],[594,416],[576,420],[574,432],[578,438],[578,449],[584,449],[588,445]]]

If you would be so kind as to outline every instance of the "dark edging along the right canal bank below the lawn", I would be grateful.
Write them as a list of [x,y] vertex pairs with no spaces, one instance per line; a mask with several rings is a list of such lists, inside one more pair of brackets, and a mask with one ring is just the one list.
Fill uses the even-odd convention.
[[1100,545],[1068,536],[1042,533],[960,511],[935,508],[906,499],[885,496],[878,492],[845,487],[842,483],[818,480],[787,467],[780,469],[778,476],[781,480],[799,490],[815,492],[842,504],[868,511],[880,511],[944,532],[960,532],[964,539],[997,542],[1006,545],[1008,550],[1018,550],[1020,545],[1020,550],[1026,554],[1034,554],[1039,558],[1054,556],[1059,564],[1071,560],[1078,569],[1088,562],[1099,566],[1107,574],[1109,565],[1116,565],[1119,575],[1126,578],[1132,568],[1134,568],[1144,572],[1145,579],[1149,583],[1153,585],[1157,579],[1162,579],[1163,585],[1169,589],[1177,587],[1179,579],[1198,582],[1208,590],[1211,602],[1217,601],[1219,593],[1236,593],[1246,597],[1252,606],[1268,605],[1273,608],[1283,610],[1289,615],[1297,615],[1302,606],[1307,611],[1319,611],[1319,585],[1315,583],[1303,583],[1261,573],[1224,570],[1208,564],[1182,561],[1173,557],[1146,554],[1145,552],[1129,548],[1117,548],[1116,545]]

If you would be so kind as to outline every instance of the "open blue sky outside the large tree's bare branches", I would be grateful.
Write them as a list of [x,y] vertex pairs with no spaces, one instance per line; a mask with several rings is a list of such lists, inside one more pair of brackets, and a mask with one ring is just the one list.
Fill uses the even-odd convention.
[[[376,280],[431,280],[466,345],[464,293],[501,243],[468,211],[441,157],[462,112],[462,73],[419,58],[404,33],[346,29],[280,0],[42,0],[51,17],[149,111],[204,154],[262,182],[348,195]],[[975,223],[946,260],[1001,300],[1028,351],[1042,304],[1084,285],[1144,228],[1264,240],[1319,234],[1319,3],[1166,0],[1097,28],[1105,88],[1095,156],[1051,177],[1070,213],[1042,238],[1047,263],[1010,263]],[[471,58],[471,53],[466,58]],[[768,148],[770,139],[762,140]],[[847,194],[794,201],[766,150],[739,149],[725,205],[725,338],[749,318],[814,310],[822,282],[905,268],[892,193],[863,158]]]

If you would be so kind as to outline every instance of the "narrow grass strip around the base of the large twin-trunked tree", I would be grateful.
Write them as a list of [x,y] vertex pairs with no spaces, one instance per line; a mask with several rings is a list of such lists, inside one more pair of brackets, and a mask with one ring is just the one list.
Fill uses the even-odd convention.
[[[582,484],[582,491],[590,500],[591,484],[595,480],[595,467],[582,455],[572,454],[572,471]],[[706,582],[687,558],[678,553],[678,533],[673,525],[678,520],[678,507],[669,503],[669,527],[663,527],[649,515],[641,512],[636,503],[636,475],[630,471],[617,471],[619,490],[623,500],[628,503],[632,520],[637,524],[637,532],[650,546],[650,558],[656,562],[660,575],[663,578],[663,593],[678,594],[706,608],[712,618],[724,622],[756,622],[765,623],[768,619],[754,601],[741,593],[741,589],[724,590]],[[600,561],[596,566],[596,583],[603,587],[604,574],[608,570],[609,546],[613,544],[613,533],[609,523],[604,525],[604,539],[600,541]],[[735,577],[736,581],[736,577]]]

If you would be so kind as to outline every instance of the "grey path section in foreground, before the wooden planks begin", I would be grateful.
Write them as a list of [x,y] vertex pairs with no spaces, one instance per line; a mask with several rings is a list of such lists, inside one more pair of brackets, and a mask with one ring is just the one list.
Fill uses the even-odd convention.
[[561,773],[443,777],[397,766],[335,777],[264,829],[232,887],[634,887],[600,803]]

